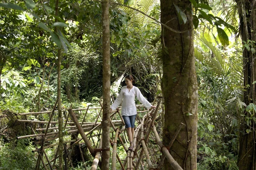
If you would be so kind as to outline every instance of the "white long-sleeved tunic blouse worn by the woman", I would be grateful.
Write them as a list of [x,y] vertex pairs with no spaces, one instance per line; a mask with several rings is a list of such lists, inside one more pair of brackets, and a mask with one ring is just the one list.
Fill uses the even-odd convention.
[[135,106],[135,96],[137,96],[140,103],[142,103],[147,109],[151,108],[151,104],[147,101],[147,99],[144,98],[144,96],[141,94],[140,89],[138,87],[133,86],[129,90],[127,89],[127,86],[123,86],[118,97],[114,101],[114,103],[111,106],[111,109],[116,109],[122,102],[122,115],[124,116],[131,116],[137,114],[137,109]]

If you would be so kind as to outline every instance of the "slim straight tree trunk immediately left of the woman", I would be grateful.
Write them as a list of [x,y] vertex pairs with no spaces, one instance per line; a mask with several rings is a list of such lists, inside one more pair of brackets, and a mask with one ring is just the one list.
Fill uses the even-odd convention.
[[102,0],[103,48],[103,115],[102,115],[102,170],[109,169],[110,158],[110,39],[109,0]]

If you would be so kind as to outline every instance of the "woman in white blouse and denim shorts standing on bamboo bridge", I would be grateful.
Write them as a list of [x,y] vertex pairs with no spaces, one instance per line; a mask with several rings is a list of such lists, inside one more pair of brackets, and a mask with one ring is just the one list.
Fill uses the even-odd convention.
[[142,103],[147,109],[156,108],[156,106],[152,106],[141,94],[140,89],[138,87],[133,86],[134,78],[132,75],[125,76],[125,84],[127,86],[123,86],[118,97],[112,104],[110,110],[116,109],[122,102],[122,117],[125,121],[125,128],[128,133],[128,138],[130,141],[130,147],[128,150],[132,150],[134,147],[133,138],[134,138],[134,122],[137,115],[137,109],[135,106],[135,96],[139,99],[140,103]]

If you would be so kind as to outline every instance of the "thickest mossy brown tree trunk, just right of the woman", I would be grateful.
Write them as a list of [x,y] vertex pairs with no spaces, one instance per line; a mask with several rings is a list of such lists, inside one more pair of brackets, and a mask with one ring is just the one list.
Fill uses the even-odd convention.
[[[162,26],[162,91],[165,105],[163,142],[167,146],[179,124],[185,124],[170,148],[170,153],[184,170],[196,170],[198,84],[192,5],[189,0],[160,0],[160,3],[162,23],[177,31],[190,29],[176,33]],[[186,24],[179,23],[174,4],[186,14]],[[167,160],[164,169],[173,170]]]

